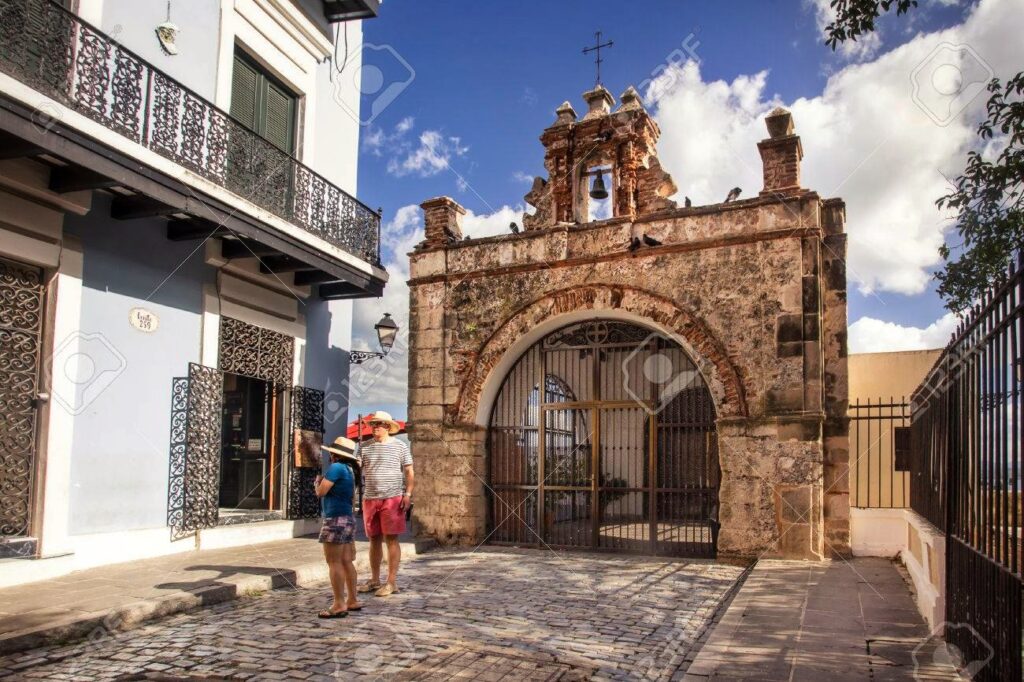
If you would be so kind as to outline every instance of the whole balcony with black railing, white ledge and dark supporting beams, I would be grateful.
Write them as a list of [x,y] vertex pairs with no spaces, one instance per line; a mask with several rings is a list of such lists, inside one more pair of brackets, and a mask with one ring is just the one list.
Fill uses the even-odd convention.
[[[226,257],[265,257],[263,271],[301,273],[304,284],[322,284],[325,298],[379,295],[386,274],[378,212],[52,0],[0,0],[0,72],[130,142],[90,144],[95,136],[79,139],[87,126],[59,116],[47,121],[56,135],[33,136],[23,119],[38,132],[39,104],[0,92],[4,158],[14,148],[55,158],[65,188],[124,190],[113,217],[167,215],[170,239],[224,238]],[[96,148],[76,154],[76,144]],[[145,151],[206,182],[189,173],[159,177],[152,168],[137,173],[131,161]],[[69,185],[69,177],[76,181]],[[209,183],[230,195],[203,195]],[[51,188],[60,190],[52,180]]]

